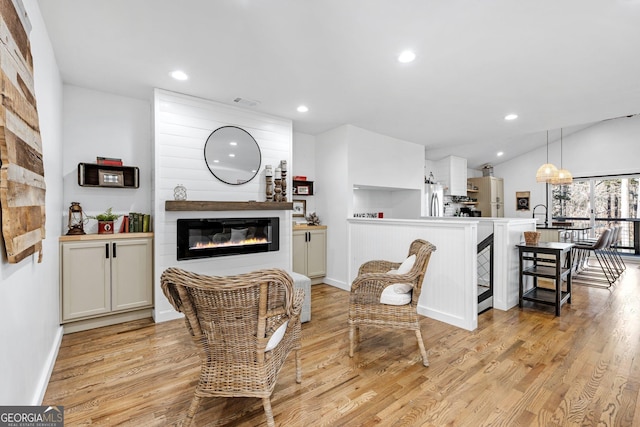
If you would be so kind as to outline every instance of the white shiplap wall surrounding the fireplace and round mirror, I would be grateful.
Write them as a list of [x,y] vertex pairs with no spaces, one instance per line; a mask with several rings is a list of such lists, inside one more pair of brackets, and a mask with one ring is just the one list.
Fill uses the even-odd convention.
[[[221,126],[238,126],[249,132],[260,146],[262,161],[258,175],[244,185],[229,185],[214,177],[204,160],[208,136]],[[268,116],[156,89],[154,92],[154,170],[153,206],[155,211],[155,320],[179,317],[160,288],[160,275],[169,267],[212,275],[230,275],[260,268],[291,269],[291,211],[213,211],[166,212],[165,201],[173,200],[173,189],[182,184],[188,200],[249,201],[265,200],[264,166],[277,167],[281,160],[291,165],[292,123]],[[288,167],[289,170],[291,166]],[[287,196],[291,200],[291,177],[287,176]],[[260,254],[236,255],[177,261],[176,221],[179,218],[274,217],[280,218],[280,250]]]

